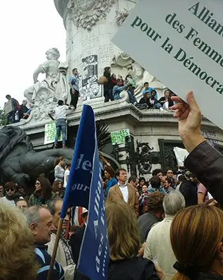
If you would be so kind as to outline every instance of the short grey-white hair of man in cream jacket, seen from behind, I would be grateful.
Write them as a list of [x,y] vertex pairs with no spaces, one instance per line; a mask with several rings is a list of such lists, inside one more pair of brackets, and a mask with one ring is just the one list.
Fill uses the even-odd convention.
[[166,215],[175,216],[184,207],[184,196],[177,190],[171,190],[171,192],[163,198],[163,209]]

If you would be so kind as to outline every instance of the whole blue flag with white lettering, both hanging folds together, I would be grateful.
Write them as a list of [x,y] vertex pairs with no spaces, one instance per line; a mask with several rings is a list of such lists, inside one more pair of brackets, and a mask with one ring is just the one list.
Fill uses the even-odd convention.
[[88,105],[83,106],[60,218],[65,218],[69,207],[76,206],[88,209],[88,222],[76,268],[91,280],[107,280],[109,241],[104,194],[97,151],[95,115]]

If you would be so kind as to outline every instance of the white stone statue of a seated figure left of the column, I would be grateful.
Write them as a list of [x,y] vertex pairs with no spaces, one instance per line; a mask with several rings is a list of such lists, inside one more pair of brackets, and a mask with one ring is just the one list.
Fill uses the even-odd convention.
[[[48,113],[53,111],[58,100],[63,100],[65,104],[69,103],[68,65],[59,62],[59,57],[60,52],[57,48],[47,50],[47,61],[40,64],[34,71],[34,85],[28,87],[24,92],[32,108],[30,119],[49,118]],[[38,80],[39,73],[46,73],[43,81]]]

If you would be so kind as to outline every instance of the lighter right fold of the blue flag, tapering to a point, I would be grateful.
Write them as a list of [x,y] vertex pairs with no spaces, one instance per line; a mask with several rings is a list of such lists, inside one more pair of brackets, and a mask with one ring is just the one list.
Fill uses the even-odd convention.
[[77,269],[81,270],[91,280],[107,280],[108,267],[109,241],[107,237],[104,194],[96,140],[95,155],[93,158],[93,176],[90,184],[88,223],[83,235]]

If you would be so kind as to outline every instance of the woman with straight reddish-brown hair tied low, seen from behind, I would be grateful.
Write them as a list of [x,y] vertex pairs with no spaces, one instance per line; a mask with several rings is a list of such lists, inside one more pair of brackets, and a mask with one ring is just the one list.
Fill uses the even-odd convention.
[[191,206],[173,219],[170,240],[177,262],[173,280],[223,279],[223,211]]

